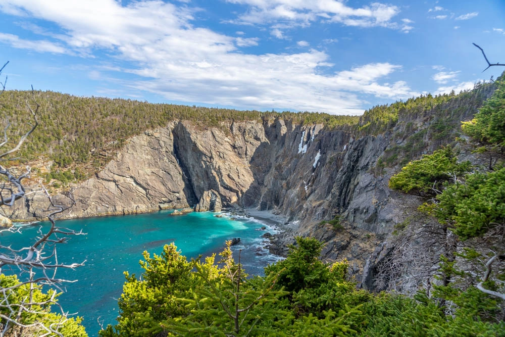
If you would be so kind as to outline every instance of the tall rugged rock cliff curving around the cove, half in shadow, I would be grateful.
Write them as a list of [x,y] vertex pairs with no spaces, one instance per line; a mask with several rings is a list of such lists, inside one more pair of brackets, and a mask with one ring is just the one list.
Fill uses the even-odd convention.
[[[205,195],[207,204],[217,198],[224,208],[285,216],[287,234],[272,239],[274,252],[282,254],[293,235],[315,236],[326,243],[325,259],[347,258],[350,273],[373,288],[376,266],[395,248],[391,233],[421,202],[391,191],[389,177],[401,160],[454,139],[460,121],[470,119],[490,92],[450,110],[450,118],[448,103],[400,114],[383,132],[367,130],[366,116],[362,129],[345,131],[281,118],[209,128],[172,121],[127,139],[105,168],[72,186],[75,204],[63,217],[192,207]],[[449,126],[442,138],[440,125]],[[55,202],[70,204],[66,194]],[[32,220],[47,206],[43,195],[31,194],[4,212]],[[325,222],[334,218],[338,226]]]

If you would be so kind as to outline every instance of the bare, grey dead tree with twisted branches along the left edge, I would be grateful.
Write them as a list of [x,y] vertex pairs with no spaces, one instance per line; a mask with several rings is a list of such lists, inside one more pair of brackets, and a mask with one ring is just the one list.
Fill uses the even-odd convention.
[[[7,63],[0,69],[0,75]],[[7,77],[4,82],[0,82],[2,86],[0,93],[4,92],[6,87]],[[13,207],[16,200],[26,198],[26,188],[23,185],[23,179],[29,177],[30,168],[26,167],[24,173],[16,173],[17,170],[9,168],[7,165],[10,156],[17,152],[28,136],[35,130],[38,125],[37,115],[40,105],[35,99],[35,94],[32,87],[31,101],[26,102],[26,109],[31,114],[32,123],[28,130],[19,137],[16,141],[11,141],[9,131],[11,124],[6,121],[4,128],[3,140],[0,142],[0,207]],[[33,244],[27,244],[25,247],[12,247],[11,244],[5,242],[5,237],[0,238],[0,273],[16,274],[19,282],[12,286],[0,286],[0,337],[14,334],[18,332],[21,335],[38,331],[42,335],[60,335],[58,330],[60,326],[67,320],[67,313],[63,311],[61,306],[56,302],[58,292],[62,291],[61,284],[64,282],[72,282],[70,280],[57,277],[59,268],[76,268],[82,266],[82,263],[65,264],[59,261],[57,255],[57,246],[65,243],[70,235],[83,234],[67,228],[58,227],[55,217],[65,211],[68,207],[57,205],[49,196],[47,190],[41,186],[39,192],[45,194],[48,199],[48,208],[46,210],[47,219],[51,223],[49,228],[40,226],[37,237],[34,238]],[[73,200],[71,196],[69,198]],[[71,206],[72,206],[71,205]],[[70,207],[71,207],[70,206]],[[21,232],[21,227],[4,228],[0,233],[5,231]],[[49,286],[53,292],[49,292],[49,298],[43,301],[37,300],[34,296],[36,291],[40,291],[40,287]],[[28,295],[20,298],[16,303],[12,303],[10,299],[21,289],[28,288]],[[44,325],[40,321],[27,324],[21,319],[22,315],[36,314],[44,315],[46,311],[40,309],[51,305],[57,306],[62,314],[60,322],[55,324]],[[14,332],[13,332],[14,331]]]

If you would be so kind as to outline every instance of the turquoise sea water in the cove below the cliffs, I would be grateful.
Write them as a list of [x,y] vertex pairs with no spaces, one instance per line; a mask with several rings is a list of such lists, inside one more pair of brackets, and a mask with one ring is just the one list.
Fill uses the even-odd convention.
[[[189,213],[170,216],[171,211],[124,216],[109,216],[58,221],[58,226],[79,231],[85,235],[72,236],[68,243],[58,245],[60,263],[85,265],[75,270],[60,269],[57,277],[77,280],[64,284],[65,292],[59,302],[65,311],[78,313],[90,336],[97,334],[100,323],[103,326],[115,324],[118,316],[117,300],[125,281],[123,271],[140,276],[139,260],[142,252],[160,254],[163,246],[175,243],[178,250],[188,260],[198,255],[208,256],[219,253],[225,247],[225,240],[240,237],[240,243],[232,247],[235,259],[241,250],[241,263],[249,275],[262,275],[263,268],[279,258],[264,249],[266,226],[271,233],[275,227],[252,218],[238,217],[236,220],[224,214],[219,218],[215,213]],[[13,248],[23,247],[33,242],[40,226],[36,223],[23,226],[22,234],[3,233],[2,245]]]

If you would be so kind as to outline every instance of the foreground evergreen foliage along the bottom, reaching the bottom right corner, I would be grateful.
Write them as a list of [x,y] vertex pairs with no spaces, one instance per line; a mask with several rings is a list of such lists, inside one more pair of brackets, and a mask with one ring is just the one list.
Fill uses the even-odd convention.
[[[126,273],[119,324],[99,334],[504,335],[505,324],[491,319],[497,302],[475,288],[444,295],[458,305],[453,316],[445,315],[424,293],[411,299],[357,290],[346,280],[347,263],[324,264],[322,248],[314,238],[297,237],[285,260],[268,266],[264,277],[252,278],[233,260],[229,243],[218,263],[215,255],[188,262],[173,244],[160,256],[144,253],[142,280]],[[456,270],[451,266],[447,272]]]

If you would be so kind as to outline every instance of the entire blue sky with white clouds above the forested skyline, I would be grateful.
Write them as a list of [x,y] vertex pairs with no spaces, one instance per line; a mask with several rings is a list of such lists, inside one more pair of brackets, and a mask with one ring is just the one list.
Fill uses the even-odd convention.
[[0,0],[7,88],[359,115],[505,67],[505,0]]

